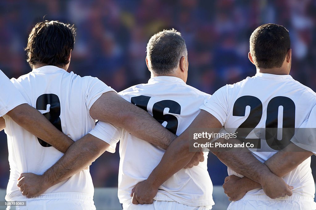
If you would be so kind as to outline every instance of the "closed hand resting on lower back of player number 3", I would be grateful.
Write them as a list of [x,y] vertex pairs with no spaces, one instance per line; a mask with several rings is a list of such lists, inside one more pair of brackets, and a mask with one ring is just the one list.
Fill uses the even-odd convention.
[[49,188],[43,177],[34,173],[21,173],[17,186],[27,198],[39,196]]

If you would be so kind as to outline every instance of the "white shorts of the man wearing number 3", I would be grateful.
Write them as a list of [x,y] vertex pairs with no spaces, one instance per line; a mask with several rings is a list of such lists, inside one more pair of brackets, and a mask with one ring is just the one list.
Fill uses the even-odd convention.
[[85,193],[49,193],[24,201],[26,206],[8,206],[6,210],[95,210],[93,198]]

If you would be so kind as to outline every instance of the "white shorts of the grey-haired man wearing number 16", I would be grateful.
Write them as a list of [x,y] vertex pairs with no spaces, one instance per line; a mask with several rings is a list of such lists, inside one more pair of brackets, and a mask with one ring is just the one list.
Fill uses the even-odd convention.
[[[211,207],[212,208],[212,207]],[[124,210],[210,210],[211,208],[183,205],[176,201],[154,201],[152,204],[123,204]]]

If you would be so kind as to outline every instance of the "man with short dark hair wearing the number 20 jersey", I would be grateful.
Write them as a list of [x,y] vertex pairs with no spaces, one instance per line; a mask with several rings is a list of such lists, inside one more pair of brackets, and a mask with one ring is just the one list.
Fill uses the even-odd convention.
[[[255,189],[248,192],[245,190],[243,194],[246,195],[242,199],[238,198],[239,201],[232,202],[228,209],[315,209],[315,184],[309,158],[312,153],[292,152],[289,156],[286,152],[292,150],[289,147],[295,147],[289,143],[295,127],[299,127],[307,119],[311,108],[316,104],[316,93],[289,75],[291,52],[289,32],[283,26],[265,24],[253,31],[248,56],[256,66],[257,74],[220,88],[201,106],[200,114],[169,146],[149,178],[137,185],[137,197],[151,202],[158,186],[187,163],[191,156],[188,152],[191,144],[188,141],[189,129],[224,126],[229,133],[238,133],[237,138],[241,141],[256,145],[255,149],[251,149],[252,154],[265,162],[271,172],[294,187],[291,197],[273,200],[268,197],[269,192],[264,191],[264,186],[261,184],[262,189],[256,183]],[[277,128],[285,128],[282,137],[277,135]],[[285,151],[277,153],[284,147]],[[222,159],[223,156],[230,156],[230,153],[219,152],[216,155]],[[235,172],[240,169],[240,165],[234,168],[229,166],[228,174],[249,177],[246,173],[254,173]],[[230,179],[234,178],[229,177],[226,181]],[[243,181],[244,178],[240,180]],[[275,190],[279,190],[278,186]]]

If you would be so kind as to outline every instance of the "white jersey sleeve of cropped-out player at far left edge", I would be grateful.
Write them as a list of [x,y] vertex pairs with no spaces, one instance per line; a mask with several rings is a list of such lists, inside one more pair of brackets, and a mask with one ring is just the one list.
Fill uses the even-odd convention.
[[26,100],[14,87],[9,78],[0,70],[0,117],[18,105],[26,104]]

